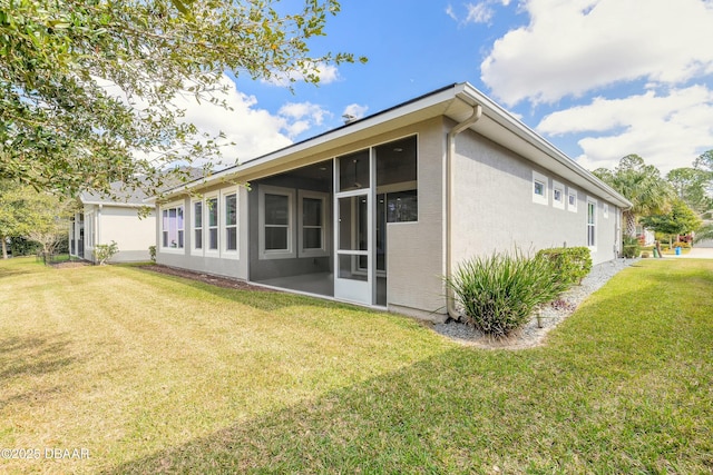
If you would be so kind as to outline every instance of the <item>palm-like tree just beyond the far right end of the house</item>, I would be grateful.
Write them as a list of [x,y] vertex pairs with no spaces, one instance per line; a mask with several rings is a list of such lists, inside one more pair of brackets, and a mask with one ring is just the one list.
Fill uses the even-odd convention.
[[624,210],[627,236],[636,236],[639,216],[666,214],[675,198],[673,188],[661,177],[661,171],[653,165],[646,165],[638,155],[627,155],[614,170],[598,168],[594,175],[632,201],[632,208]]

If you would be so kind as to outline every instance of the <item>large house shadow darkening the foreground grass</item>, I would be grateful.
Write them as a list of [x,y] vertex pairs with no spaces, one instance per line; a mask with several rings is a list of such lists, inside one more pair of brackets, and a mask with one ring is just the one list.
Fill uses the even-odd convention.
[[637,383],[566,367],[540,350],[457,348],[105,473],[626,473],[658,461],[701,464],[700,438],[658,446],[662,436],[692,434],[670,420],[670,407],[636,396]]

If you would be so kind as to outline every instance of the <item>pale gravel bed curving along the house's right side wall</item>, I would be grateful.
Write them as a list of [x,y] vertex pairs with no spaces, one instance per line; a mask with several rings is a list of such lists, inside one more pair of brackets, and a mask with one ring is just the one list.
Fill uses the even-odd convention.
[[[582,279],[582,285],[575,285],[563,294],[555,304],[539,308],[528,324],[515,335],[506,339],[494,339],[476,330],[473,327],[459,321],[449,320],[433,325],[433,329],[455,342],[482,348],[530,348],[543,343],[547,333],[565,318],[572,315],[593,291],[607,283],[616,273],[629,267],[638,259],[615,259],[609,263],[592,267],[592,271]],[[539,325],[536,315],[539,313]]]

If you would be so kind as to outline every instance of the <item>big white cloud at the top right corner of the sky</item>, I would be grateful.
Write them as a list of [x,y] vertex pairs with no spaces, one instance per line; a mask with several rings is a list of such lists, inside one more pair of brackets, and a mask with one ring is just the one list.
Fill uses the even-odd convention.
[[527,0],[522,8],[530,23],[497,40],[481,63],[481,79],[507,105],[713,73],[707,0]]

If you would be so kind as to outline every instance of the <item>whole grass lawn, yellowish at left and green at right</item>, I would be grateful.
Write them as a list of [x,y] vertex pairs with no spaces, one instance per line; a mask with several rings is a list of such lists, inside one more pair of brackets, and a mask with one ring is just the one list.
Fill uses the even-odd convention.
[[0,473],[712,473],[712,308],[713,260],[645,259],[545,346],[482,350],[306,297],[10,259]]

